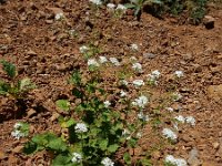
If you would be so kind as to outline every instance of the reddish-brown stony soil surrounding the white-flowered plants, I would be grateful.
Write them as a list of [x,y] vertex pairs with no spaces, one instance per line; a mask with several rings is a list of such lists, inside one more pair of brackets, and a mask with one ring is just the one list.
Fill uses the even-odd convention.
[[[64,12],[64,21],[53,20],[54,8]],[[19,153],[27,138],[16,141],[10,134],[19,121],[31,124],[31,135],[60,132],[51,118],[56,113],[54,102],[70,97],[67,79],[74,68],[87,65],[80,58],[79,46],[93,43],[101,48],[101,54],[121,60],[130,55],[129,45],[137,43],[140,50],[132,55],[140,60],[145,73],[160,70],[163,75],[158,92],[167,92],[174,84],[184,96],[174,107],[181,106],[183,115],[196,118],[194,127],[181,129],[179,143],[151,154],[154,165],[161,165],[167,154],[188,158],[195,147],[202,165],[221,166],[221,90],[210,92],[209,86],[222,84],[222,10],[211,9],[209,14],[215,18],[212,30],[203,25],[178,25],[174,19],[159,20],[147,13],[140,22],[131,15],[115,19],[105,8],[92,10],[85,0],[9,0],[0,4],[0,59],[14,63],[19,77],[30,77],[37,85],[26,98],[27,108],[19,108],[13,100],[0,96],[0,165],[49,165],[46,152],[33,156]],[[78,32],[75,38],[68,34],[72,29]],[[145,52],[155,58],[143,58]],[[180,82],[170,79],[175,70],[184,71]],[[7,79],[2,69],[0,76]],[[112,74],[107,77],[113,81]],[[36,112],[31,116],[30,110]],[[155,141],[157,135],[144,133],[142,151],[149,151]]]

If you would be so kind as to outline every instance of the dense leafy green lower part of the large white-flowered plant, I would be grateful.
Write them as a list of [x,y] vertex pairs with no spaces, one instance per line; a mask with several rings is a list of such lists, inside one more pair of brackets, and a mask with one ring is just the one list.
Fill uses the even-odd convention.
[[[59,117],[59,123],[62,128],[68,129],[69,134],[36,135],[24,147],[27,154],[42,149],[52,151],[54,154],[52,165],[112,166],[117,163],[114,156],[120,147],[124,147],[128,152],[137,146],[141,137],[139,131],[147,122],[147,117],[144,116],[144,121],[138,117],[129,123],[128,114],[131,105],[133,106],[132,103],[140,108],[148,103],[148,98],[140,96],[131,102],[124,97],[125,102],[122,104],[125,106],[117,111],[113,101],[107,98],[109,92],[100,87],[99,71],[91,72],[88,81],[82,75],[80,71],[75,71],[69,80],[73,86],[74,100],[56,102],[57,107],[67,113],[65,116]],[[131,163],[129,153],[124,153],[123,160],[127,164]]]

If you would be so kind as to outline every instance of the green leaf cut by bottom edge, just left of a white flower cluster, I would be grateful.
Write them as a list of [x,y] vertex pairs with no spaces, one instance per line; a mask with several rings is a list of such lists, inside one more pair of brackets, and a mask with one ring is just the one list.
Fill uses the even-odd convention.
[[53,160],[52,166],[72,166],[71,156],[67,154],[59,154]]

